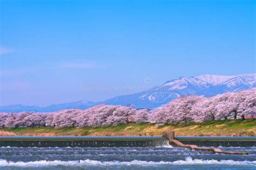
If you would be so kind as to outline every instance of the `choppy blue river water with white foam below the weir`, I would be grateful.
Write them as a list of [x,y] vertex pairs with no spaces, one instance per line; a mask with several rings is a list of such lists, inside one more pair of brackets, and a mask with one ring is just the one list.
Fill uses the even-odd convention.
[[0,147],[0,169],[256,169],[256,147],[221,147],[248,155],[151,147]]

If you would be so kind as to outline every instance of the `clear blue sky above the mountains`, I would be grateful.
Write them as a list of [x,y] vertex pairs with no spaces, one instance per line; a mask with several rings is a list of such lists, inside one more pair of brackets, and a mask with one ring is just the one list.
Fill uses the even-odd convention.
[[[1,105],[103,101],[180,76],[255,73],[255,1],[0,1]],[[87,86],[87,85],[86,85]],[[139,89],[134,89],[134,92]]]

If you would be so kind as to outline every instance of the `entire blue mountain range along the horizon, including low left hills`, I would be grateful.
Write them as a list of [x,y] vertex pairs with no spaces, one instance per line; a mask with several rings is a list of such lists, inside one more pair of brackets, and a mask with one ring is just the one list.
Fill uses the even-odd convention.
[[6,105],[0,107],[0,112],[51,112],[62,109],[86,109],[97,104],[127,105],[134,104],[136,108],[152,109],[166,104],[174,98],[185,95],[204,95],[206,97],[223,94],[225,92],[237,92],[256,87],[256,74],[241,74],[234,76],[200,75],[194,77],[179,77],[166,81],[151,89],[110,98],[103,102],[78,101],[72,103],[49,105],[48,107],[36,107],[28,105]]

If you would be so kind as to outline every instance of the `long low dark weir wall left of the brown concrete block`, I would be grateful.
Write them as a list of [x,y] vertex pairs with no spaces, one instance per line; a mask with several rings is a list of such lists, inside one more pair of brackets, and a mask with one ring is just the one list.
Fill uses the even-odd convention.
[[0,137],[0,147],[154,147],[168,144],[164,137]]

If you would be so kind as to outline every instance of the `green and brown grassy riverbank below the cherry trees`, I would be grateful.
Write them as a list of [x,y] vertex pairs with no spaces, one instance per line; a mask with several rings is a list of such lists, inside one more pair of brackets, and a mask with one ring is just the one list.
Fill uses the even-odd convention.
[[203,123],[122,124],[85,128],[2,128],[0,136],[161,136],[173,130],[176,136],[256,136],[256,119],[206,121]]

